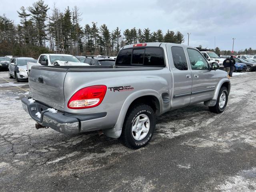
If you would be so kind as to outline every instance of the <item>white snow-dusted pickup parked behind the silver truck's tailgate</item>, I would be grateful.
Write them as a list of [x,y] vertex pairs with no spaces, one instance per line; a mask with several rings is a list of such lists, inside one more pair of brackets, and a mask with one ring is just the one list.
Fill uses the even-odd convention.
[[32,66],[80,66],[87,65],[80,63],[80,61],[72,55],[67,54],[41,54],[36,63],[28,62],[28,74]]

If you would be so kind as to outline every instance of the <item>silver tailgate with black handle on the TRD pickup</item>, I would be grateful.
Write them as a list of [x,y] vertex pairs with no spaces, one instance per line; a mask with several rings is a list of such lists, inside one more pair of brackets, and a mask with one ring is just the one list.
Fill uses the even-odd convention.
[[28,82],[29,96],[52,108],[63,111],[65,105],[63,84],[67,69],[33,66]]

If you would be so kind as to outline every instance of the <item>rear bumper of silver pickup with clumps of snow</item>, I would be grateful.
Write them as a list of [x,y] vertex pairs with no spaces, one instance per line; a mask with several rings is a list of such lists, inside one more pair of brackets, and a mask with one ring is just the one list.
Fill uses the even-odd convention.
[[[66,114],[58,111],[57,113],[49,112],[47,109],[51,108],[40,102],[31,103],[28,98],[22,100],[23,109],[36,121],[38,124],[50,127],[58,132],[64,134],[76,134],[81,132],[81,122],[84,124],[87,121],[102,118],[107,115],[106,112],[86,115]],[[41,113],[41,118],[36,117],[36,113]],[[90,124],[90,123],[88,123]],[[90,128],[88,128],[90,129]],[[84,132],[84,131],[82,131]]]

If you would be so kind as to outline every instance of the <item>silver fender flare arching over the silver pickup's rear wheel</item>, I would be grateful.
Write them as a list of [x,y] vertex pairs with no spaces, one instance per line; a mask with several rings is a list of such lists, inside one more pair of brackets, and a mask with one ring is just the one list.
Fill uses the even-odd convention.
[[122,108],[120,110],[118,119],[116,121],[116,125],[114,128],[102,130],[106,136],[112,137],[112,138],[119,138],[122,133],[122,126],[124,123],[124,119],[126,116],[126,113],[128,111],[128,108],[134,102],[134,100],[143,97],[143,96],[155,96],[158,99],[159,105],[160,105],[160,114],[162,111],[162,98],[160,94],[156,90],[140,90],[136,91],[132,94],[130,94],[126,100],[124,101],[124,104],[122,105]]

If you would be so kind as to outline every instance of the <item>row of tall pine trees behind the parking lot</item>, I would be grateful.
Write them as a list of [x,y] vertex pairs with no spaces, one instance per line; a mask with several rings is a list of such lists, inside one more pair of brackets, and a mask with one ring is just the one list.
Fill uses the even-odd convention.
[[42,53],[72,55],[115,56],[127,44],[139,42],[171,42],[181,44],[181,32],[145,29],[110,30],[97,22],[81,26],[82,13],[77,6],[60,11],[55,5],[50,10],[43,0],[32,6],[22,6],[17,11],[19,24],[14,24],[5,14],[0,16],[0,55],[30,56]]

